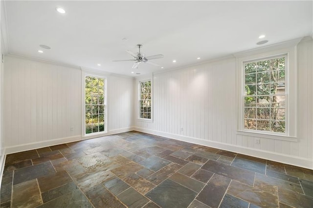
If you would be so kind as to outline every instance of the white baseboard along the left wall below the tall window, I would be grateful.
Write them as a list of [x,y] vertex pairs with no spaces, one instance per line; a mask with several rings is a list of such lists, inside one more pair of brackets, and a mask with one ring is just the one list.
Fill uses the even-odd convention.
[[69,142],[77,142],[77,141],[92,139],[96,137],[108,136],[111,134],[123,133],[123,132],[131,131],[131,130],[134,130],[134,127],[113,129],[104,134],[94,134],[94,135],[85,136],[85,137],[82,137],[82,135],[76,135],[76,136],[71,136],[71,137],[64,137],[64,138],[53,139],[53,140],[45,140],[41,142],[34,142],[34,143],[28,143],[28,144],[23,144],[23,145],[17,145],[17,146],[8,146],[6,147],[5,154],[22,152],[22,151],[27,151],[31,149],[38,149],[38,148],[43,148],[46,146],[60,145],[60,144],[65,144]]

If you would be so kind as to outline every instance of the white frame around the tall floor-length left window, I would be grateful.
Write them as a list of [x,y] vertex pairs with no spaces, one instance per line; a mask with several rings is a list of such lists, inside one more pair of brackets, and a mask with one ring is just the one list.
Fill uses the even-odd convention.
[[[85,94],[85,88],[86,88],[86,77],[95,77],[95,78],[101,78],[104,79],[104,106],[105,106],[105,112],[104,112],[104,131],[100,131],[100,132],[94,132],[94,133],[89,133],[86,134],[86,103],[85,103],[85,99],[86,99],[86,94]],[[107,95],[107,82],[108,79],[106,76],[103,75],[97,75],[97,74],[93,74],[93,73],[83,73],[82,76],[82,88],[83,88],[83,96],[82,96],[82,136],[83,137],[93,137],[96,135],[101,135],[101,134],[106,134],[108,133],[108,95]]]

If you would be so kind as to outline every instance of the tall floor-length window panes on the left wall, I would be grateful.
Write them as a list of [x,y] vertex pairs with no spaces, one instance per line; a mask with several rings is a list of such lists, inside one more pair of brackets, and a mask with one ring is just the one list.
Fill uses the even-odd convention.
[[85,133],[106,131],[105,78],[85,77]]

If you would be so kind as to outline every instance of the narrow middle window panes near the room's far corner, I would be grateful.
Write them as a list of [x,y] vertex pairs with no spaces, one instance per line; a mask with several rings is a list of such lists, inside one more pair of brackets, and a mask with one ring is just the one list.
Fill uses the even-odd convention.
[[139,119],[152,119],[151,80],[139,82]]

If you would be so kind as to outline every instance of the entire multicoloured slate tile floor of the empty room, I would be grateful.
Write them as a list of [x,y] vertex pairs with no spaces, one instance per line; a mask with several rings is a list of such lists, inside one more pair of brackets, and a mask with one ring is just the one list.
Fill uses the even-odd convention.
[[1,208],[313,208],[313,170],[136,131],[7,155]]

